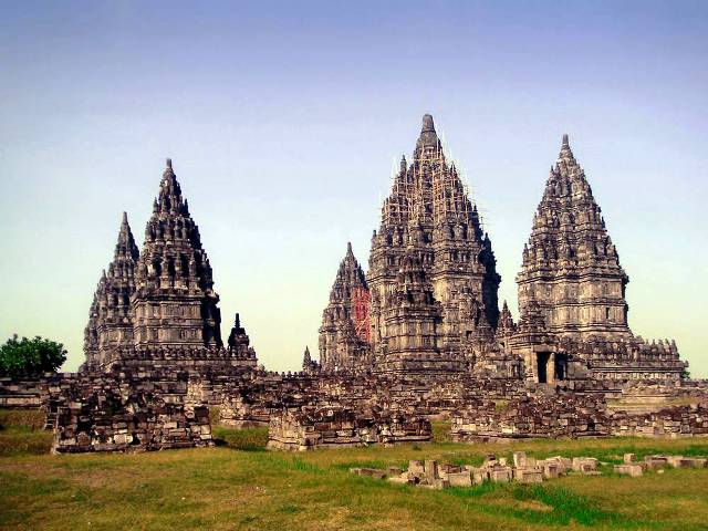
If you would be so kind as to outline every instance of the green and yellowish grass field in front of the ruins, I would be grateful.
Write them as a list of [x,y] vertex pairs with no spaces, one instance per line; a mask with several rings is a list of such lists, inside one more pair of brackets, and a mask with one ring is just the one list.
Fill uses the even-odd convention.
[[137,455],[45,452],[51,437],[31,414],[0,412],[0,528],[532,530],[708,529],[708,469],[621,477],[568,476],[541,486],[483,485],[433,491],[348,473],[437,458],[479,464],[486,452],[597,457],[708,455],[707,439],[593,439],[396,448],[264,451],[267,430],[217,427],[220,446]]

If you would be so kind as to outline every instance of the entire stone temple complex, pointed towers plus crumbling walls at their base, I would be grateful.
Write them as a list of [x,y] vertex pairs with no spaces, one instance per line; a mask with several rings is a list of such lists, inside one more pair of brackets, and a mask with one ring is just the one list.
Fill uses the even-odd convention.
[[[407,419],[433,415],[451,416],[460,440],[705,435],[705,408],[673,400],[705,402],[708,386],[687,378],[674,341],[627,325],[627,275],[566,136],[517,282],[514,322],[506,302],[499,312],[490,239],[426,115],[384,201],[368,273],[351,244],[340,263],[321,363],[305,347],[302,372],[267,372],[239,314],[222,345],[211,267],[168,160],[140,253],[124,215],[91,305],[86,364],[0,378],[0,405],[42,405],[56,451],[210,445],[207,405],[229,425],[270,421],[271,446],[299,449],[424,440],[429,424]],[[611,404],[674,407],[637,417]]]

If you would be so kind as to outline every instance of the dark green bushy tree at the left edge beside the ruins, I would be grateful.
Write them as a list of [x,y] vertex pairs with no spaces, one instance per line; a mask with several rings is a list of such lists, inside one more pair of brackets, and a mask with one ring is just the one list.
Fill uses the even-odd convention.
[[33,340],[14,334],[0,346],[0,375],[13,378],[54,372],[66,361],[64,345],[39,335]]

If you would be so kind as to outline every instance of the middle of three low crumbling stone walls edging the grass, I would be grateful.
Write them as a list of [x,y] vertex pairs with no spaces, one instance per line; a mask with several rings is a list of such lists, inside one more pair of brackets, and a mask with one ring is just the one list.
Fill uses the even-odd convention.
[[284,408],[271,415],[268,448],[311,450],[372,444],[425,442],[429,420],[392,412],[355,412],[345,407]]

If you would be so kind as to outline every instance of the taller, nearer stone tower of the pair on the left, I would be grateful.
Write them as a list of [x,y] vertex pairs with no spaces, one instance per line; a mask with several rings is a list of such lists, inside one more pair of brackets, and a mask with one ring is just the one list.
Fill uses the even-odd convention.
[[221,346],[218,302],[199,229],[167,159],[137,266],[136,345]]

